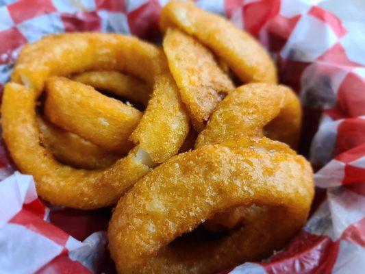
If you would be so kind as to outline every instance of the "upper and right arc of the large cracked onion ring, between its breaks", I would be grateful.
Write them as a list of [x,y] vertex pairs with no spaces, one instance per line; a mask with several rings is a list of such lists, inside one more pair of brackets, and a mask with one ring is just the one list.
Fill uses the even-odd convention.
[[52,75],[100,69],[129,73],[153,87],[147,110],[130,140],[147,151],[154,163],[175,155],[188,134],[188,117],[166,57],[154,45],[121,34],[47,36],[23,48],[11,80],[39,95]]

